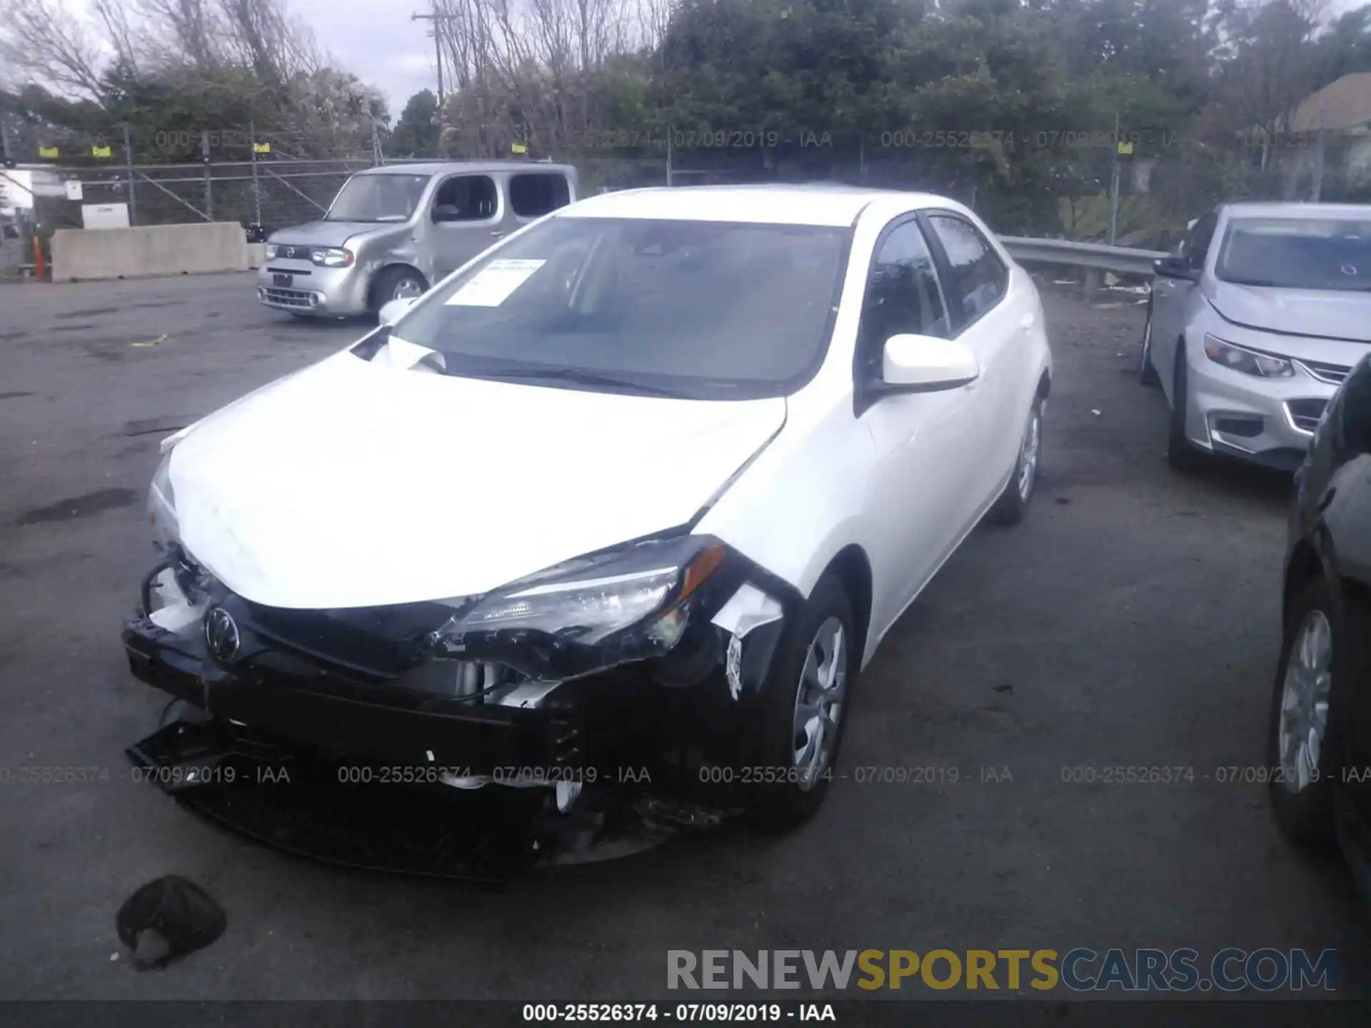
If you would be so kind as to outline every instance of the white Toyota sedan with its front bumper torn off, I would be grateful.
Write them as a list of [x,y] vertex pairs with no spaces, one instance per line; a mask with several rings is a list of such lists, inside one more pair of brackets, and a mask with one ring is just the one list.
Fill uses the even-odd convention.
[[1042,306],[951,200],[610,193],[399,303],[163,444],[123,641],[228,731],[795,824],[882,637],[1034,495]]

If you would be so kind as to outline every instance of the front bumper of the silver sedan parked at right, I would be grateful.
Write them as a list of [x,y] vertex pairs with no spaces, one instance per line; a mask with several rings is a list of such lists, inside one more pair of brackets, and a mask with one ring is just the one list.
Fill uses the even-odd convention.
[[1197,445],[1282,470],[1300,466],[1335,385],[1300,369],[1293,378],[1257,378],[1219,366],[1202,350],[1187,356],[1186,430]]

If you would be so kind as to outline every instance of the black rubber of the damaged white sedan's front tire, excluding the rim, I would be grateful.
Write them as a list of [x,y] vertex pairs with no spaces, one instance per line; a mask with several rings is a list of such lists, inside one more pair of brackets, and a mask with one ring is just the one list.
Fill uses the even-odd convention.
[[[757,792],[749,806],[755,824],[766,831],[788,831],[808,821],[824,802],[836,776],[838,752],[851,710],[853,677],[860,661],[860,654],[854,652],[853,624],[847,592],[838,576],[828,573],[818,580],[799,617],[780,639],[771,674],[762,687],[757,737],[747,747],[755,754],[751,761],[755,768],[765,769],[769,779],[781,779],[753,785]],[[831,636],[834,625],[840,632],[836,647]],[[809,674],[806,681],[802,676],[810,668],[812,654],[812,670],[816,673]],[[809,733],[816,732],[824,720],[816,714],[806,725],[806,735],[801,736],[797,725],[799,705],[802,699],[813,698],[829,668],[840,676],[834,685],[838,692],[835,717],[824,736],[831,746],[823,765],[806,783],[798,770],[797,740],[812,737]]]

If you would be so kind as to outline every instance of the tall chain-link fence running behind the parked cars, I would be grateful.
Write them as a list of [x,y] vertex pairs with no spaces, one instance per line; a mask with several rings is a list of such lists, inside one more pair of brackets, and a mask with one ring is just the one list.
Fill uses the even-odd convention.
[[[130,225],[236,221],[269,233],[318,218],[350,174],[388,160],[377,129],[302,137],[239,126],[106,137],[21,126],[7,143],[21,162],[8,174],[27,177],[26,217],[43,236],[81,228],[90,204],[126,204]],[[1132,130],[659,129],[594,133],[568,152],[536,156],[574,163],[583,195],[825,180],[951,196],[1002,234],[1149,248],[1169,247],[1190,218],[1223,200],[1371,200],[1371,138],[1352,136],[1215,147]],[[8,192],[12,204],[16,189]]]

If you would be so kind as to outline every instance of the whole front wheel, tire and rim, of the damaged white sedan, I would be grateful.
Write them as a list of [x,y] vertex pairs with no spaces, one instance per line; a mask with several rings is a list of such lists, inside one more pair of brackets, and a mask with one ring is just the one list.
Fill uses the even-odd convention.
[[757,790],[750,806],[762,825],[794,828],[828,795],[847,725],[857,646],[843,584],[825,574],[781,636],[762,688],[760,762],[747,774]]

